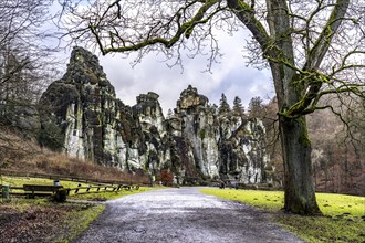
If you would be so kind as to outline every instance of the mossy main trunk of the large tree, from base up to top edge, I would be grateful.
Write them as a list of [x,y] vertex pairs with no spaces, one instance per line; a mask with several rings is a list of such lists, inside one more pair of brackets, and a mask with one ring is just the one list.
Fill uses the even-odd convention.
[[[304,94],[306,86],[300,82],[294,61],[294,46],[290,33],[288,6],[284,0],[268,2],[268,23],[275,44],[268,46],[268,60],[274,82],[279,127],[284,163],[284,209],[298,214],[317,214],[313,184],[311,142],[307,137]],[[293,108],[293,107],[300,107]]]

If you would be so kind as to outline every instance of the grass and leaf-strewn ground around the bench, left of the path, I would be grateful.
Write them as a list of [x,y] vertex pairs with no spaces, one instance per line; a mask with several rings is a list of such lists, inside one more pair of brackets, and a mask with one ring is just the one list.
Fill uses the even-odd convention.
[[[79,182],[60,181],[64,188],[75,188]],[[1,177],[0,183],[11,187],[23,184],[53,184],[51,179]],[[81,183],[87,187],[86,183]],[[100,192],[74,194],[67,199],[80,202],[54,203],[49,198],[11,198],[0,199],[0,242],[17,242],[27,237],[30,242],[70,242],[84,232],[106,208],[103,203],[86,201],[106,201],[127,194],[153,190],[140,187],[139,190],[121,190],[118,192]],[[18,239],[19,237],[19,239]],[[17,240],[18,239],[18,240]]]

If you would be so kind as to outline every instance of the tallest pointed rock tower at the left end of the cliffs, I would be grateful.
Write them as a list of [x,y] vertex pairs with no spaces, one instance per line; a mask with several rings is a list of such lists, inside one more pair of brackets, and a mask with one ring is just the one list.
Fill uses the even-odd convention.
[[69,155],[123,168],[122,113],[128,110],[115,98],[96,56],[74,49],[66,74],[50,85],[40,103],[52,114],[41,117],[45,130],[59,128],[56,137],[45,141],[55,139],[54,147]]

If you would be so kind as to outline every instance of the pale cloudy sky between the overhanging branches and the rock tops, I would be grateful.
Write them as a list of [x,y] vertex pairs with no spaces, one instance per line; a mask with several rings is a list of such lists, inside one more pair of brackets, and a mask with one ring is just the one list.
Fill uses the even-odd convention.
[[189,84],[208,97],[211,104],[219,104],[225,93],[232,105],[233,98],[239,96],[246,106],[254,96],[264,101],[273,96],[273,85],[270,72],[248,67],[243,57],[243,34],[229,36],[221,34],[220,49],[225,55],[220,63],[212,66],[211,73],[204,72],[208,62],[206,57],[184,60],[184,71],[180,66],[168,67],[163,62],[164,56],[150,53],[136,66],[131,63],[134,56],[124,59],[121,54],[100,56],[101,65],[107,78],[115,87],[118,98],[127,105],[136,104],[136,96],[155,92],[159,94],[159,103],[166,114],[168,108],[176,107],[180,93]]

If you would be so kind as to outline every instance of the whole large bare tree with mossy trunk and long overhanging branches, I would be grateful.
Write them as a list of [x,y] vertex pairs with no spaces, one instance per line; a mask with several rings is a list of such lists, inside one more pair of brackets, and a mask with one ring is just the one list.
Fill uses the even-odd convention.
[[[217,30],[249,30],[249,62],[272,73],[279,105],[286,211],[320,213],[313,187],[305,115],[327,94],[364,97],[362,0],[116,0],[65,1],[73,41],[103,54],[139,57],[161,52],[219,56]],[[229,43],[221,43],[229,44]]]

